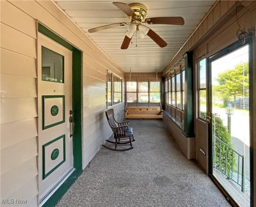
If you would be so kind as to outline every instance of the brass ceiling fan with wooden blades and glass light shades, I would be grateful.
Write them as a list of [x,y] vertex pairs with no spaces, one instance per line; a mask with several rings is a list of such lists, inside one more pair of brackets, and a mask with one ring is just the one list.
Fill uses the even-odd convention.
[[124,11],[127,15],[127,22],[118,22],[114,24],[107,24],[105,26],[95,27],[88,29],[89,33],[95,33],[103,29],[109,29],[118,26],[127,26],[124,41],[121,45],[121,49],[127,49],[131,42],[132,36],[136,31],[138,38],[144,38],[145,35],[149,36],[159,47],[166,47],[167,43],[152,29],[145,26],[142,23],[147,24],[173,24],[173,25],[184,25],[184,19],[182,17],[151,17],[146,18],[147,7],[140,3],[125,4],[121,2],[113,2],[113,4]]

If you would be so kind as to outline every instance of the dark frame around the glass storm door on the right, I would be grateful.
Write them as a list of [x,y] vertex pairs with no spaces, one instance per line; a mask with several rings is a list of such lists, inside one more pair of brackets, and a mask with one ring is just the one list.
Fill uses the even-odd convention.
[[[243,45],[247,45],[249,47],[249,96],[250,96],[250,101],[249,101],[249,116],[250,116],[250,206],[253,206],[254,200],[253,200],[253,39],[252,37],[246,38],[246,42]],[[206,64],[207,64],[207,72],[206,76],[208,79],[208,87],[207,87],[207,109],[208,109],[208,114],[211,114],[211,120],[212,120],[212,73],[211,73],[211,63],[212,61],[227,55],[230,52],[233,52],[234,50],[239,49],[239,47],[243,47],[241,42],[237,41],[232,43],[231,45],[228,45],[224,49],[221,49],[219,52],[216,52],[212,56],[208,57],[206,59]],[[232,206],[238,206],[236,201],[228,194],[227,190],[222,187],[220,182],[214,178],[213,173],[212,173],[212,121],[211,123],[208,123],[208,139],[209,139],[209,144],[208,144],[208,151],[209,151],[209,165],[208,165],[208,170],[209,170],[209,177],[211,180],[215,183],[215,185],[221,190],[223,195],[226,197],[228,202],[232,204]]]

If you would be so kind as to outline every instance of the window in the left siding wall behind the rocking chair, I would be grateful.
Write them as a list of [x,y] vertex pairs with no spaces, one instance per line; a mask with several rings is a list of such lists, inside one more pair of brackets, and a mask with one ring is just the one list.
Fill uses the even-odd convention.
[[107,78],[107,102],[108,106],[122,102],[122,79],[112,73]]

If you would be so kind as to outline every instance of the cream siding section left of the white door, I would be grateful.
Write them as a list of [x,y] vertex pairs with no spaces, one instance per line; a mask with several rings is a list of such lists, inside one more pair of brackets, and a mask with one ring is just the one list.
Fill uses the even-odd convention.
[[1,1],[0,24],[1,201],[37,206],[36,24],[7,1]]

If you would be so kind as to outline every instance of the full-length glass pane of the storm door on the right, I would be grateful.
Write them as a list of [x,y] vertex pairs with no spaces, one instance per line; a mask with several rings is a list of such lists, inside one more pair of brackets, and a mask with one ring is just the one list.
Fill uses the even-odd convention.
[[249,45],[209,58],[212,178],[230,201],[250,206]]

